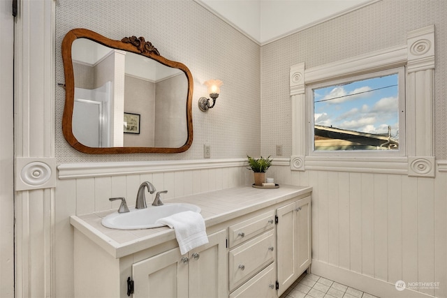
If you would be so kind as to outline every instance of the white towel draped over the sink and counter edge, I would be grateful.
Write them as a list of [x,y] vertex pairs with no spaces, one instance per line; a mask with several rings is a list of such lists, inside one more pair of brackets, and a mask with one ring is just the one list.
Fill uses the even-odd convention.
[[184,255],[191,249],[208,243],[205,232],[205,221],[198,212],[184,211],[160,218],[156,223],[168,225],[175,230],[175,237],[179,243],[180,253]]

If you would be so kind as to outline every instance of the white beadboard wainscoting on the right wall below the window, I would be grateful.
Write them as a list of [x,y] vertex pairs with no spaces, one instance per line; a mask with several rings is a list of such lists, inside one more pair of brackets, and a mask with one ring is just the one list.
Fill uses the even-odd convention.
[[[279,184],[312,186],[312,271],[378,297],[447,297],[447,173],[291,171]],[[395,290],[396,281],[439,283]]]

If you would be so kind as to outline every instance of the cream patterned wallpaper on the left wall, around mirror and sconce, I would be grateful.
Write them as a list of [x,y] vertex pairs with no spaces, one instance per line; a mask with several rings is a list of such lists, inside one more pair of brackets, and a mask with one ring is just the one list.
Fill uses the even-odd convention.
[[[86,28],[121,40],[143,36],[162,56],[180,61],[193,75],[193,144],[182,154],[89,155],[71,148],[61,132],[65,92],[56,90],[58,163],[242,158],[261,150],[261,48],[192,0],[58,0],[56,3],[56,82],[64,82],[61,42],[71,29]],[[203,82],[223,81],[214,109],[200,112],[207,96]]]

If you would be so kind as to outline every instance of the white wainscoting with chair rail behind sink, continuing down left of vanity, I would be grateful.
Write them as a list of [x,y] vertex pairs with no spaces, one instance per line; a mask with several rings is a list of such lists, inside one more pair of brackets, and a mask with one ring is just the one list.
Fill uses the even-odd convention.
[[[288,163],[287,163],[288,165]],[[246,158],[209,161],[156,161],[140,163],[76,163],[59,165],[56,186],[54,248],[54,297],[73,297],[72,215],[118,209],[109,198],[124,197],[129,206],[142,181],[157,191],[168,191],[162,200],[251,184],[253,173]],[[154,199],[146,194],[147,202]]]

